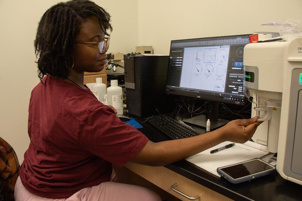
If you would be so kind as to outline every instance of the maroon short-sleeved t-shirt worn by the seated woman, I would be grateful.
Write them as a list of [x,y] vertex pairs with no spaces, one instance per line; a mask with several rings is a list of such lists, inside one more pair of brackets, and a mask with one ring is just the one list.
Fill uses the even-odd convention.
[[51,75],[43,83],[31,93],[31,141],[19,171],[30,192],[67,198],[109,181],[112,164],[124,166],[146,145],[146,136],[121,122],[89,88]]

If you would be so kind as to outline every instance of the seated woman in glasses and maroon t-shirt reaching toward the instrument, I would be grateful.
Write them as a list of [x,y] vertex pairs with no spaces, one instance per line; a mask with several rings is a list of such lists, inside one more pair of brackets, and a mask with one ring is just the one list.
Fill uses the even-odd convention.
[[110,15],[93,2],[59,3],[42,16],[34,42],[38,76],[29,104],[30,145],[16,200],[160,200],[152,191],[110,181],[112,164],[166,165],[224,141],[249,140],[257,118],[213,132],[159,143],[121,122],[83,84],[104,68]]

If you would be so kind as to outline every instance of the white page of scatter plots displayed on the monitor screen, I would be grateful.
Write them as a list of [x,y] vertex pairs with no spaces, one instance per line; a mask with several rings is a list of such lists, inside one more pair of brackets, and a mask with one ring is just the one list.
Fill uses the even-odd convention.
[[180,87],[223,93],[229,51],[229,45],[185,48]]

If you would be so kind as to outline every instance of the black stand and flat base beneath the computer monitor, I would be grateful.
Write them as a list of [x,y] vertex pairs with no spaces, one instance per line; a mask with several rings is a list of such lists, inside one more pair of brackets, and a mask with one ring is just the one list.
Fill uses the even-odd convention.
[[211,130],[217,129],[229,122],[229,120],[218,119],[218,102],[216,101],[211,101],[211,104],[206,104],[206,111],[209,111],[206,113],[206,115],[194,116],[182,121],[206,128],[207,120],[210,119]]

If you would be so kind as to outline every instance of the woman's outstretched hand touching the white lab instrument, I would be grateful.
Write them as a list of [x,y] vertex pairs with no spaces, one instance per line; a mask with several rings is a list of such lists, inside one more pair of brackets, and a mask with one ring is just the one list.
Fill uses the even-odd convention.
[[226,141],[244,143],[252,138],[257,126],[262,123],[257,119],[255,116],[251,119],[233,120],[219,129],[221,129]]

